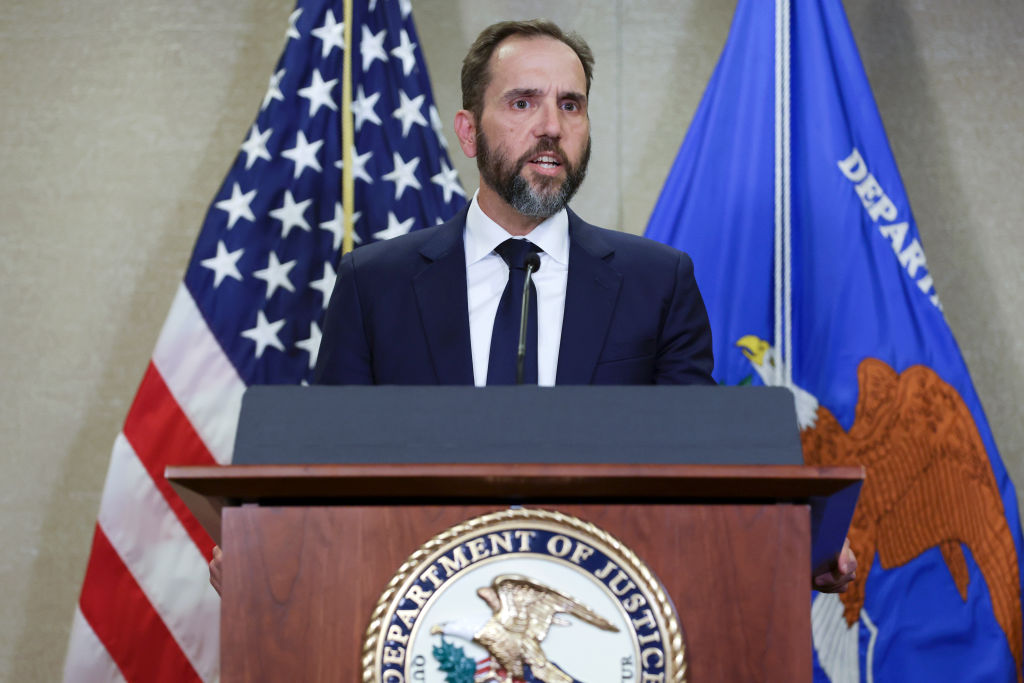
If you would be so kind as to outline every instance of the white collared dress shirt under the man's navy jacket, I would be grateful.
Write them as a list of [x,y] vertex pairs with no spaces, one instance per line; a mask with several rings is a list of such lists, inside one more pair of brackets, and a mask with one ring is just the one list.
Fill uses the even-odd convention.
[[[487,383],[487,356],[498,303],[509,280],[509,267],[495,247],[510,236],[480,209],[476,196],[466,214],[466,287],[469,299],[469,341],[473,352],[473,383]],[[537,379],[554,386],[558,345],[562,339],[565,284],[569,272],[569,217],[565,209],[522,238],[543,249],[541,267],[534,274],[537,288]]]

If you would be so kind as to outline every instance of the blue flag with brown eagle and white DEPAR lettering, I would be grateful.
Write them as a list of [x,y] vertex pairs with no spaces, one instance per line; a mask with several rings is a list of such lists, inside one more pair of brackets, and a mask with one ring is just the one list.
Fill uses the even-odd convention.
[[[787,384],[805,460],[866,468],[857,580],[814,598],[816,677],[1019,681],[1014,486],[846,15],[839,0],[793,0],[787,28],[774,4],[739,0],[647,236],[693,258],[716,379]],[[783,322],[792,383],[776,374]]]

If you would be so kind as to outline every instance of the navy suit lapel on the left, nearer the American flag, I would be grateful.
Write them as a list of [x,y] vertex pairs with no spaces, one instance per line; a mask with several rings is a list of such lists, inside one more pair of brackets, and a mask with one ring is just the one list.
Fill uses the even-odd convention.
[[427,264],[413,279],[420,318],[439,384],[473,384],[466,297],[466,211],[440,225],[420,253]]

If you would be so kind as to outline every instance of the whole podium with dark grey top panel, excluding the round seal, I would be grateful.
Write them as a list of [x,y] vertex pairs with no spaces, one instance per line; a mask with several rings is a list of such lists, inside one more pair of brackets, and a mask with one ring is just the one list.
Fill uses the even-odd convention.
[[811,681],[812,566],[863,479],[803,466],[793,396],[764,387],[254,387],[234,462],[167,470],[224,549],[225,683],[364,680],[397,568],[510,506],[629,546],[678,611],[685,680]]

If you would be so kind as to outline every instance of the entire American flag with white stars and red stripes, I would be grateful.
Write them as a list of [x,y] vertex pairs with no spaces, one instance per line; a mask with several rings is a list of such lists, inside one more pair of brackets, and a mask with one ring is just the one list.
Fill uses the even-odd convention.
[[[409,0],[349,0],[356,245],[433,225],[465,193]],[[213,542],[167,465],[230,462],[242,393],[311,375],[343,234],[342,0],[299,0],[217,193],[111,465],[66,681],[212,681]]]

